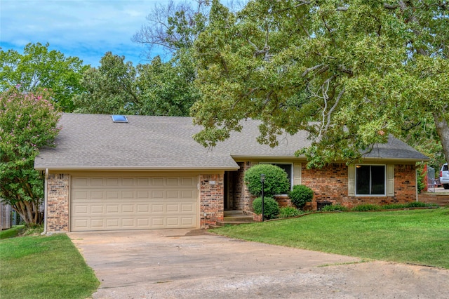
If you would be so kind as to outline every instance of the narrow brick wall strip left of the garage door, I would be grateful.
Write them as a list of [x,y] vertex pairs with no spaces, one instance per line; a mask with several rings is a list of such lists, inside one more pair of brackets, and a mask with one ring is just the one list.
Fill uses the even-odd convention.
[[70,175],[48,175],[47,232],[69,232]]

